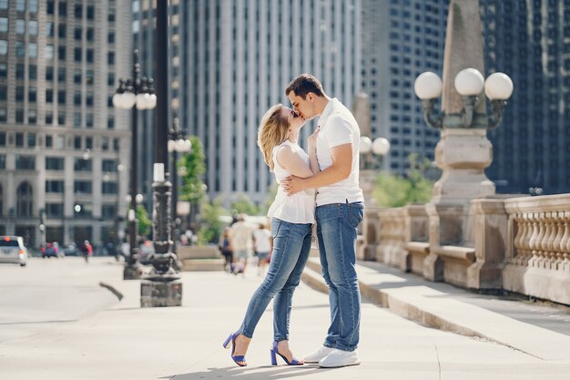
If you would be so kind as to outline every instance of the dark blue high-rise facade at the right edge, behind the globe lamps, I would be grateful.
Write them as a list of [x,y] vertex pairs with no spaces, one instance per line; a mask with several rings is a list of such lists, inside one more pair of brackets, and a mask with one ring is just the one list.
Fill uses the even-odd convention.
[[570,1],[480,5],[486,74],[514,82],[487,176],[499,192],[570,192]]

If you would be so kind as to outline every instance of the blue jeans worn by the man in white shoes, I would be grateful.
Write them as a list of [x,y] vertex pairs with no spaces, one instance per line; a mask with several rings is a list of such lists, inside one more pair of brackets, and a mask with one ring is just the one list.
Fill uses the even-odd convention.
[[356,277],[356,228],[362,221],[362,202],[317,207],[317,237],[322,276],[329,285],[331,326],[323,345],[353,351],[360,340],[361,293]]

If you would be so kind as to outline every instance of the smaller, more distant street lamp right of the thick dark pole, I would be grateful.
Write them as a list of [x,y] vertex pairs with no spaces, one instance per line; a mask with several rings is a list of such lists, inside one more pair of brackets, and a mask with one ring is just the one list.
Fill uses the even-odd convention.
[[174,119],[172,129],[168,131],[168,152],[172,153],[172,252],[177,253],[177,241],[179,236],[179,219],[178,219],[178,153],[188,153],[192,150],[192,144],[186,137],[184,130],[178,126],[178,118]]

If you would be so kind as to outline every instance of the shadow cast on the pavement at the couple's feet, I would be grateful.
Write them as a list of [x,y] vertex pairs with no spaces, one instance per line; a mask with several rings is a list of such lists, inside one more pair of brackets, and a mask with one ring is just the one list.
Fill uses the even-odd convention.
[[[169,378],[172,380],[188,380],[188,379],[225,379],[234,376],[247,378],[248,380],[267,380],[271,379],[290,379],[297,376],[317,375],[331,369],[319,368],[318,365],[280,365],[280,366],[258,366],[258,367],[236,367],[229,366],[223,368],[208,368],[208,371],[188,372],[187,374],[174,375]],[[247,376],[247,377],[246,377]]]

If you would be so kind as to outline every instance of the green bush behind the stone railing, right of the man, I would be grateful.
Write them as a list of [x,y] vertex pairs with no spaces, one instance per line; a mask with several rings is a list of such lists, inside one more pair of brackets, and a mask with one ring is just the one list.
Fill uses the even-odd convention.
[[424,173],[430,167],[429,159],[418,162],[418,156],[409,156],[410,169],[404,177],[382,172],[376,181],[373,196],[381,207],[402,207],[407,204],[423,204],[432,198],[433,181]]

